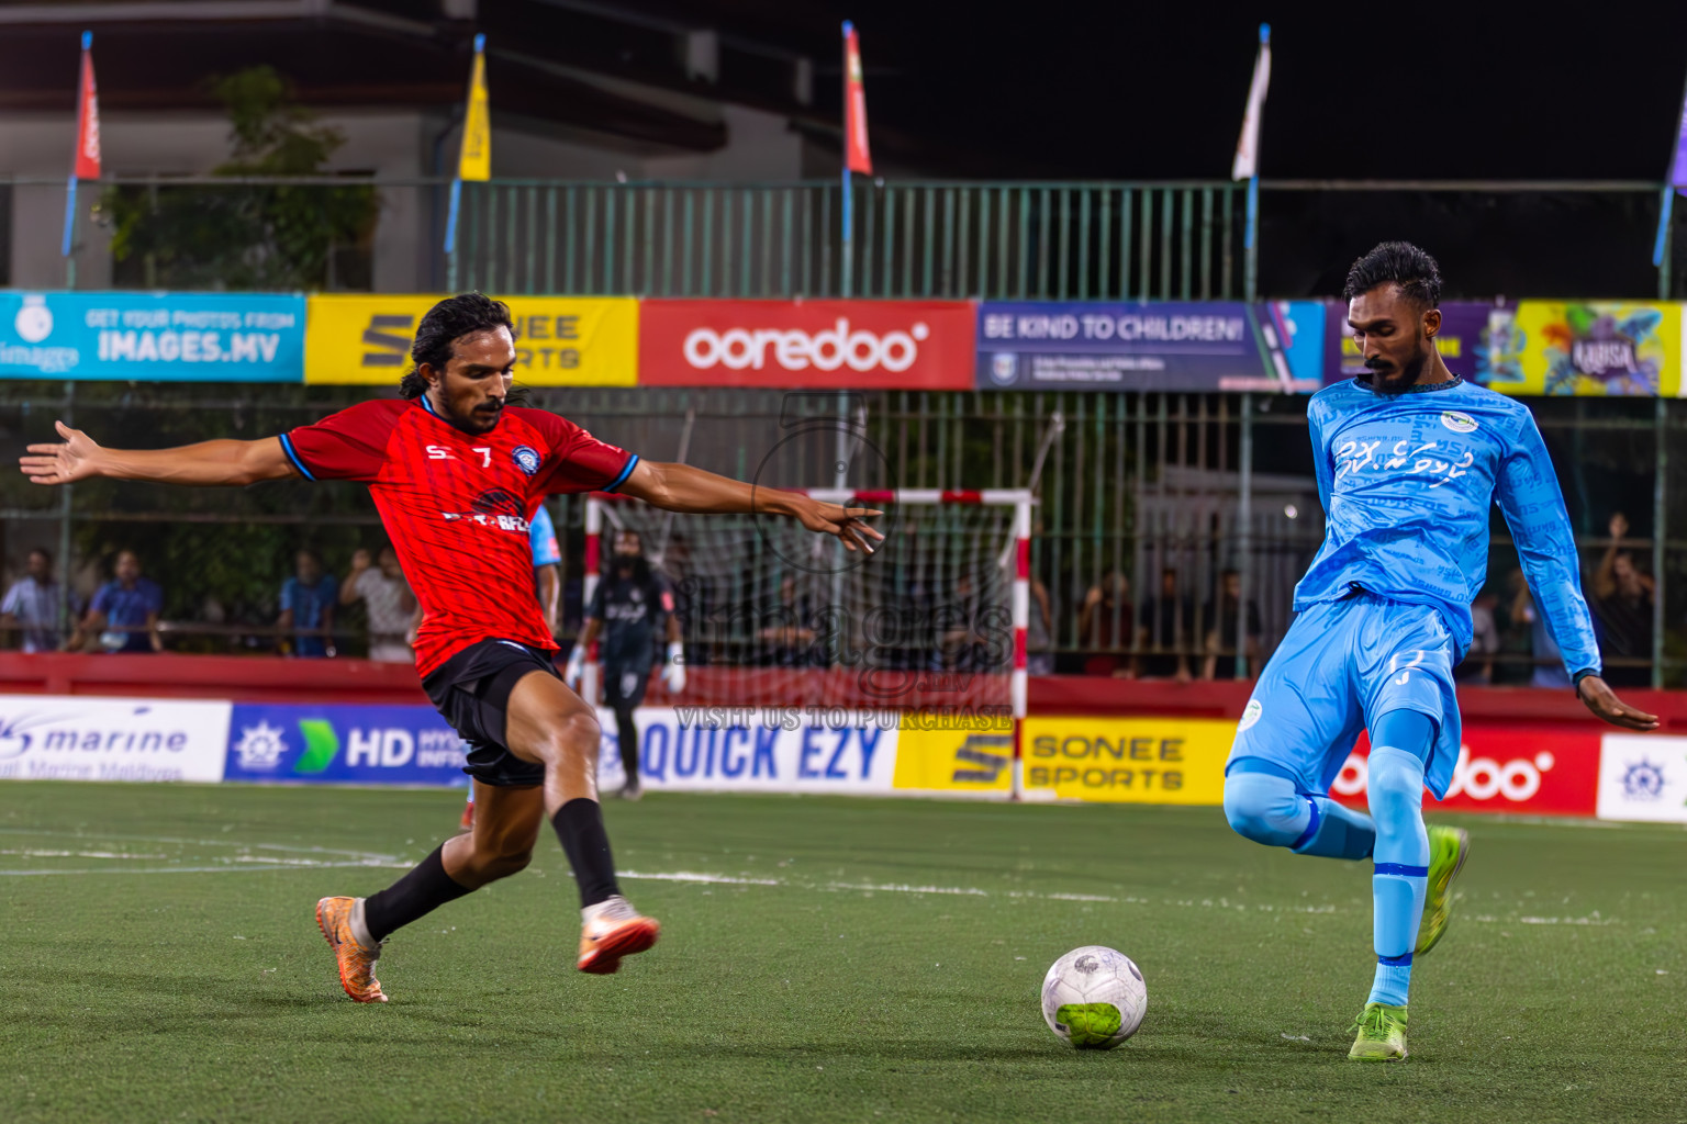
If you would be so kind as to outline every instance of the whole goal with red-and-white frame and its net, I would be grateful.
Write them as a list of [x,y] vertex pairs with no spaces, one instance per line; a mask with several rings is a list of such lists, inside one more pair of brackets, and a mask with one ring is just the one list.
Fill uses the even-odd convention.
[[[584,511],[582,608],[612,565],[614,534],[636,531],[675,588],[687,688],[653,703],[852,708],[921,713],[926,721],[1011,721],[1011,787],[1024,794],[1026,639],[1031,620],[1031,509],[1026,489],[786,489],[876,507],[886,534],[872,556],[849,553],[795,519],[676,514],[594,492]],[[599,652],[582,694],[599,699]],[[1002,738],[987,745],[999,767]],[[965,773],[962,750],[955,779]],[[1000,790],[997,790],[1000,799]]]

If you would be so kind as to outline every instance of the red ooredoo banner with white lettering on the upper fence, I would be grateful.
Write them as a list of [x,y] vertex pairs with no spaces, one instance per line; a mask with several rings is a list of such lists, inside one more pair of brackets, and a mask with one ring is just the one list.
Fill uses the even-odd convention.
[[641,386],[970,391],[965,300],[644,300]]

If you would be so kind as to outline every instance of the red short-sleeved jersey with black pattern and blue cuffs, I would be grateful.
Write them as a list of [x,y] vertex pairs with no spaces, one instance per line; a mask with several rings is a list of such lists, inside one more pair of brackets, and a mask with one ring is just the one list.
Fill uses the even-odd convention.
[[359,403],[282,435],[307,480],[364,480],[422,603],[427,677],[477,640],[555,649],[533,593],[528,519],[545,495],[612,492],[638,455],[545,409],[464,433],[427,399]]

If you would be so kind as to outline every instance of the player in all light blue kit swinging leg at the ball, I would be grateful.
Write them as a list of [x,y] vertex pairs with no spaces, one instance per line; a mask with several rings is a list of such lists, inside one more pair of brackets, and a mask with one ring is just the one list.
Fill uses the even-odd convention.
[[[1471,642],[1495,500],[1582,703],[1630,730],[1657,718],[1599,677],[1576,541],[1528,409],[1464,383],[1436,351],[1434,258],[1383,243],[1353,265],[1345,297],[1368,374],[1326,388],[1307,409],[1324,544],[1237,726],[1225,816],[1296,854],[1373,859],[1377,976],[1348,1057],[1397,1062],[1412,955],[1446,930],[1469,851],[1463,831],[1426,832],[1422,794],[1446,795],[1459,755],[1453,666]],[[1370,816],[1329,799],[1361,728]]]

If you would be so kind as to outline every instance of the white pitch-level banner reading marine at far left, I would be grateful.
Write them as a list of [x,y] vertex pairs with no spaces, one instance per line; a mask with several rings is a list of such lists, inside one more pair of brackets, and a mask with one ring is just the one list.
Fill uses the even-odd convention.
[[221,780],[228,703],[0,696],[0,779]]

